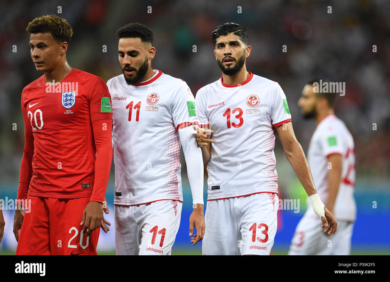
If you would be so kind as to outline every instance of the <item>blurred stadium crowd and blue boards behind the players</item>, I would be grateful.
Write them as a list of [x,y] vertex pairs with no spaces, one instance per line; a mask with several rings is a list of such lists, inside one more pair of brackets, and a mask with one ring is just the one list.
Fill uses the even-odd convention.
[[[152,67],[182,78],[195,94],[221,76],[211,44],[219,24],[237,22],[248,30],[252,53],[248,71],[277,81],[287,96],[296,137],[305,153],[315,129],[304,121],[297,101],[313,76],[346,82],[336,114],[355,139],[357,220],[352,254],[389,254],[390,208],[390,9],[389,1],[1,1],[0,12],[0,197],[15,199],[24,145],[21,91],[42,75],[29,54],[28,22],[44,14],[58,14],[58,6],[73,28],[67,51],[69,64],[107,81],[121,74],[115,31],[138,21],[152,28],[156,57]],[[151,13],[148,13],[151,6]],[[241,6],[241,13],[239,7]],[[332,13],[328,13],[328,6]],[[14,45],[17,50],[13,52]],[[106,45],[106,52],[103,52]],[[196,52],[194,52],[196,45]],[[282,46],[287,52],[282,52]],[[373,52],[376,45],[377,52]],[[17,130],[12,130],[13,124]],[[373,123],[377,129],[373,130]],[[145,140],[147,141],[147,140]],[[159,144],[154,144],[159,145]],[[299,219],[305,211],[305,192],[275,145],[280,198],[300,199],[300,213],[279,211],[273,254],[287,254]],[[201,254],[188,236],[191,192],[182,155],[183,213],[172,254]],[[114,165],[106,197],[113,223]],[[206,181],[205,181],[205,199]],[[376,208],[373,202],[376,201]],[[81,215],[80,215],[81,216]],[[5,234],[0,254],[14,254],[13,211],[4,210]],[[223,230],[227,233],[229,230]],[[101,232],[99,254],[115,254],[113,225]]]

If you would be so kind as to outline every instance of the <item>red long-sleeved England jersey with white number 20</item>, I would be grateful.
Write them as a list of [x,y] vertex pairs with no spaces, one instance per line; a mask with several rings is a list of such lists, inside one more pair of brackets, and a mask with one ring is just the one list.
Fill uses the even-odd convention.
[[[111,159],[96,173],[94,129],[106,130],[111,143],[111,96],[106,83],[75,68],[56,85],[46,83],[43,75],[23,89],[21,108],[25,149],[18,199],[27,199],[27,191],[31,196],[58,199],[91,197],[95,174],[99,174],[105,183],[96,181],[95,186],[105,187],[97,188],[99,193],[94,192],[96,197],[91,200],[101,201]],[[106,121],[100,124],[99,120]],[[105,158],[110,158],[110,153]]]

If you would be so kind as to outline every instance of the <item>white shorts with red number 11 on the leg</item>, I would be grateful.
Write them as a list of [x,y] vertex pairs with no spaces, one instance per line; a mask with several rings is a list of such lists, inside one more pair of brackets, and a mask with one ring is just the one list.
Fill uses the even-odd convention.
[[179,230],[182,205],[177,200],[115,205],[117,255],[170,255]]

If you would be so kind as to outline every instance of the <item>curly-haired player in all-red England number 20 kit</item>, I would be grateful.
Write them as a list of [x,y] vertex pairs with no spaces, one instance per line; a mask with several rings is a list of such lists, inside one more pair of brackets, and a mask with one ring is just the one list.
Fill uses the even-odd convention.
[[68,65],[73,31],[66,20],[41,16],[26,30],[31,58],[44,75],[21,95],[18,199],[28,200],[30,213],[15,210],[16,255],[96,255],[99,227],[106,230],[111,96],[101,78]]

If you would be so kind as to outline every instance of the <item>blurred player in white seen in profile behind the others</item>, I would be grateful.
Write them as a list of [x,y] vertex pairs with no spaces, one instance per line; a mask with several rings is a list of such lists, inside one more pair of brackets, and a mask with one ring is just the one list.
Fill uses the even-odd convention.
[[303,117],[317,122],[307,160],[318,194],[337,220],[337,234],[324,236],[321,221],[308,205],[296,227],[289,255],[349,255],[356,218],[355,145],[344,122],[334,114],[335,94],[319,92],[315,82],[305,85],[298,105]]

